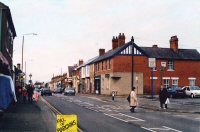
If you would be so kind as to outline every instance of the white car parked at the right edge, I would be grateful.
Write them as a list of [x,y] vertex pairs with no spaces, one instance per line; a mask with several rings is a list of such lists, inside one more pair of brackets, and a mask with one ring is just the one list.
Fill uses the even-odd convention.
[[191,98],[200,96],[200,88],[198,86],[184,86],[182,89],[185,90],[186,95]]

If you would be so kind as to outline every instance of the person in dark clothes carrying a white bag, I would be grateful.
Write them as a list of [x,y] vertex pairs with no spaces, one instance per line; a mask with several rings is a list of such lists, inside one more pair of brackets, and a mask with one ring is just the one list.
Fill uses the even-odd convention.
[[167,92],[166,88],[163,88],[163,86],[161,86],[160,88],[160,92],[159,92],[159,100],[160,100],[160,108],[163,109],[163,104],[165,104],[165,108],[167,109],[167,104],[169,103],[169,94]]

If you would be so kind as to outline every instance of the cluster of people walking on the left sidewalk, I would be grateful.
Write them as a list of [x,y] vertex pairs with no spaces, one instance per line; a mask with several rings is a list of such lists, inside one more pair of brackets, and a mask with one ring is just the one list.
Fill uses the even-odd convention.
[[17,100],[23,103],[33,103],[33,91],[34,87],[32,84],[26,85],[26,87],[18,87],[17,88]]

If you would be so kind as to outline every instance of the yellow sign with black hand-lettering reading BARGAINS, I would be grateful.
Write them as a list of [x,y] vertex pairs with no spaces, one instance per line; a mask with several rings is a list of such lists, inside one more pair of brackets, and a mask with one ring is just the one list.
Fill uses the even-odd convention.
[[78,132],[77,115],[57,115],[56,132]]

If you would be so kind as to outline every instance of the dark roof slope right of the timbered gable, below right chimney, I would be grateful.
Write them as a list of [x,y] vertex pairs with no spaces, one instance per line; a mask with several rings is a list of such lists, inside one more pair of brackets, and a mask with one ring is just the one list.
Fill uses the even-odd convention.
[[157,59],[200,60],[200,54],[196,49],[178,49],[178,52],[170,48],[141,47],[141,49],[149,57]]

